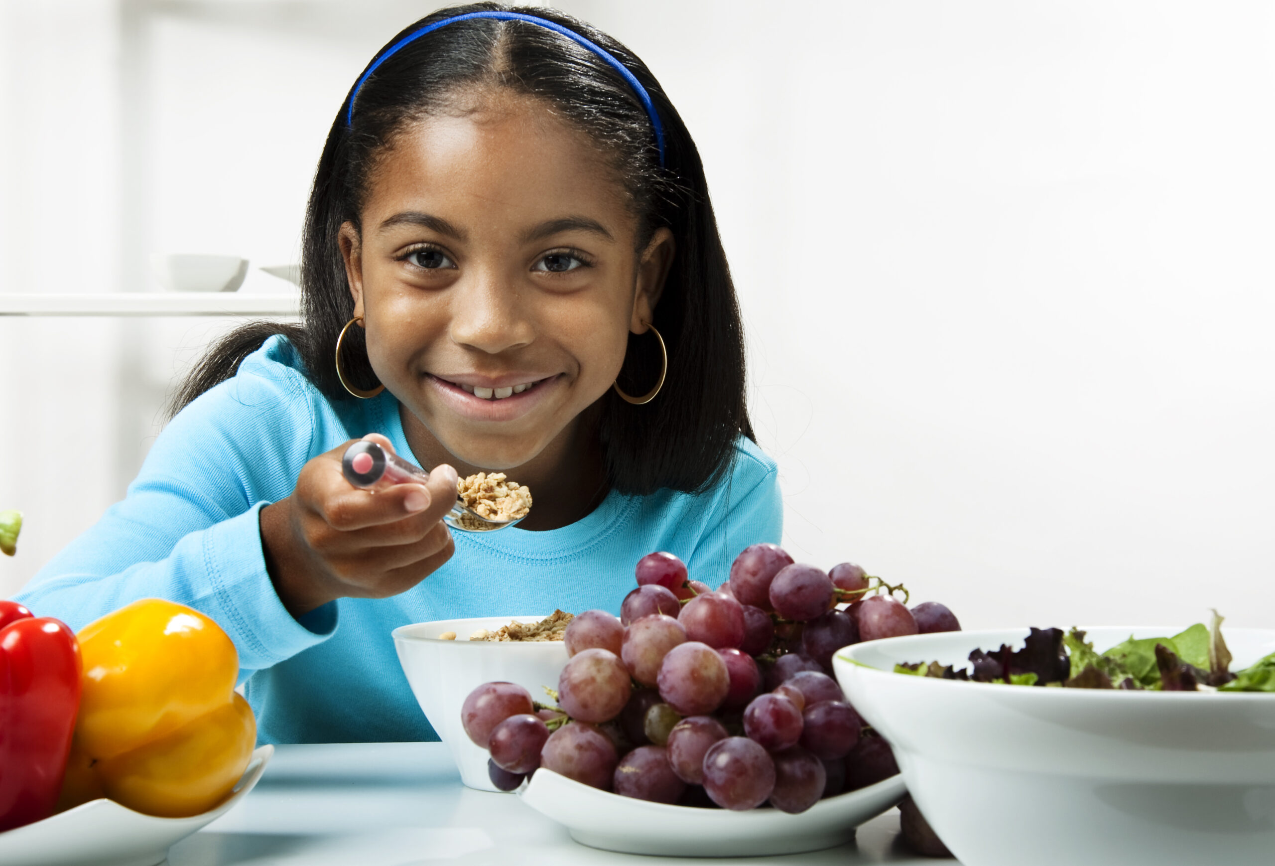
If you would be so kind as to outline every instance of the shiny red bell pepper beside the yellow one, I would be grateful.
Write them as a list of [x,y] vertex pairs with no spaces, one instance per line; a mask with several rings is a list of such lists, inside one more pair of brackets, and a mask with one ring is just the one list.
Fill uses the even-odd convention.
[[0,832],[54,814],[79,694],[75,633],[0,601]]

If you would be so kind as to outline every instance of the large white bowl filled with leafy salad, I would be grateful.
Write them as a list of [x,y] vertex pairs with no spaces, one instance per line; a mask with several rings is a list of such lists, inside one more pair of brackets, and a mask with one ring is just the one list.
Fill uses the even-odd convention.
[[[1093,627],[1100,652],[1181,627]],[[1021,647],[1026,629],[854,644],[834,657],[854,708],[965,866],[1275,862],[1275,695],[1049,689],[894,673]],[[1275,630],[1227,629],[1232,670]]]

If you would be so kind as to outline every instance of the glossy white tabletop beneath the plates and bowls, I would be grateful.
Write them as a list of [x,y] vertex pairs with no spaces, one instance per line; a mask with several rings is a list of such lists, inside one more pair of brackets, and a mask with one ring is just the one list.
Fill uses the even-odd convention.
[[[652,828],[658,833],[659,828]],[[891,809],[857,842],[768,858],[638,857],[576,844],[565,828],[514,795],[470,791],[441,744],[279,746],[235,810],[168,852],[170,866],[553,866],[784,862],[794,866],[933,866],[899,840]]]

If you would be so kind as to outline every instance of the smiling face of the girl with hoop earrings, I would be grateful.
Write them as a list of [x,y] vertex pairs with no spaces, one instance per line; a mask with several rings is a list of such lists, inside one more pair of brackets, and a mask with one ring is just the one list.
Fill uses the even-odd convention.
[[570,441],[673,256],[667,228],[636,249],[586,135],[507,94],[408,128],[361,222],[340,245],[372,369],[455,460],[487,469]]

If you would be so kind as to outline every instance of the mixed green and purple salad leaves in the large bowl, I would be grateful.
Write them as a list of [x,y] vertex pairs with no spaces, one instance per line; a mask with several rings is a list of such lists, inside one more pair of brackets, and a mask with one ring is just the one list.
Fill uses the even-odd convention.
[[1221,620],[1214,611],[1209,626],[1197,622],[1169,638],[1135,639],[1131,635],[1102,653],[1079,629],[1067,633],[1031,629],[1023,649],[1016,652],[1009,644],[991,652],[975,649],[969,654],[969,668],[922,662],[895,664],[894,670],[943,680],[1067,689],[1275,693],[1275,653],[1232,672]]

